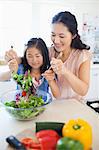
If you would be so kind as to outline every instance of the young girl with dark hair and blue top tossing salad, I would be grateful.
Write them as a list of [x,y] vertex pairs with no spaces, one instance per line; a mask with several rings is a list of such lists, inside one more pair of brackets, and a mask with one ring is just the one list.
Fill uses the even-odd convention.
[[48,92],[50,86],[53,96],[56,98],[60,96],[54,73],[52,72],[51,75],[46,76],[46,79],[42,76],[49,68],[50,61],[48,48],[41,38],[32,38],[28,41],[20,65],[18,65],[15,58],[11,59],[8,65],[11,72],[14,71],[18,74],[24,74],[26,71],[30,70],[33,83],[37,86],[38,90]]

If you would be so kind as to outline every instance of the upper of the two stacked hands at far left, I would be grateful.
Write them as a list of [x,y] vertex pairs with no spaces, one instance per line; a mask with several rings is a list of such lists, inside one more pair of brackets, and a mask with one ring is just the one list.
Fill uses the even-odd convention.
[[5,60],[8,63],[12,59],[18,60],[18,56],[17,56],[17,53],[13,49],[10,49],[9,51],[5,52]]

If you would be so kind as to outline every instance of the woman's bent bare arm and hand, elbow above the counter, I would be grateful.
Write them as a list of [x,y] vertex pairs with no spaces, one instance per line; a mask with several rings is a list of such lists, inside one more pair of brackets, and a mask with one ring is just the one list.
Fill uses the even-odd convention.
[[58,75],[62,75],[76,93],[81,96],[86,95],[90,80],[90,60],[87,60],[80,65],[78,77],[67,70],[61,60],[53,58],[51,63],[54,72]]

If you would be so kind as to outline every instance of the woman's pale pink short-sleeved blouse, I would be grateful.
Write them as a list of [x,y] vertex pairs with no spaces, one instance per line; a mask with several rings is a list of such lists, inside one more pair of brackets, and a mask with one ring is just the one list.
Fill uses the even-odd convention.
[[[49,49],[50,58],[55,56],[55,50]],[[88,50],[72,50],[68,59],[64,62],[64,66],[78,77],[80,65],[86,60],[91,59],[91,53]],[[78,95],[70,86],[68,81],[61,75],[58,75],[58,85],[61,91],[61,98],[70,99],[82,99],[81,95]]]

